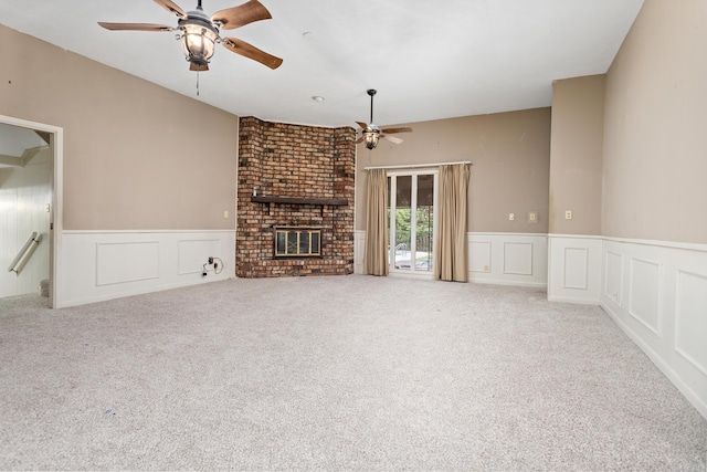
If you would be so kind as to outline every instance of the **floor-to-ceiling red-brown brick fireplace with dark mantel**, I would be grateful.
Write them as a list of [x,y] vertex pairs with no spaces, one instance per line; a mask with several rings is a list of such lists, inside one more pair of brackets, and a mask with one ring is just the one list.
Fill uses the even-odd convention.
[[350,127],[240,119],[239,277],[354,273],[355,140]]

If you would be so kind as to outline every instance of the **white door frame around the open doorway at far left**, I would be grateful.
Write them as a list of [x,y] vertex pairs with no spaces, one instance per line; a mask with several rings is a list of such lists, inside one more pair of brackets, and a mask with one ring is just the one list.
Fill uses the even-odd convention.
[[50,134],[51,149],[51,178],[52,201],[50,208],[50,231],[49,231],[49,273],[50,290],[49,300],[52,308],[61,308],[63,281],[61,279],[62,268],[62,231],[63,231],[63,188],[64,188],[64,128],[44,123],[30,122],[12,116],[0,115],[0,123],[19,126],[22,128],[36,129]]

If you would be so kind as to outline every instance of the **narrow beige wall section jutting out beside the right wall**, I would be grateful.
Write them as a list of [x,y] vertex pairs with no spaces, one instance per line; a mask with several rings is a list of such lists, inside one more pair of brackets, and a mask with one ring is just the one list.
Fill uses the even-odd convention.
[[550,233],[601,234],[604,82],[592,75],[552,85]]

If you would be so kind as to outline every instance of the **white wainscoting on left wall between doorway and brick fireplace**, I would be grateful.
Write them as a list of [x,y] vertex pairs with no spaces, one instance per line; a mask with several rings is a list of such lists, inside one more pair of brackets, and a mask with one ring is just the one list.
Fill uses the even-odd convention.
[[235,231],[63,231],[61,252],[56,307],[235,276]]

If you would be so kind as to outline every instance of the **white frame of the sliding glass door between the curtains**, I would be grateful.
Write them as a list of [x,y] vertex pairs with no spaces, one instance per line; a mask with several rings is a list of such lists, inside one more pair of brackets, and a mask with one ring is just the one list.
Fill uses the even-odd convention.
[[[439,169],[420,169],[420,170],[412,170],[412,169],[408,169],[408,170],[400,169],[400,170],[398,170],[397,169],[394,171],[387,172],[387,176],[390,177],[390,179],[391,179],[390,180],[390,200],[391,201],[388,202],[389,208],[391,210],[390,218],[388,220],[389,232],[390,232],[389,233],[389,241],[390,241],[391,245],[393,245],[394,242],[395,242],[395,225],[393,224],[393,221],[392,221],[392,214],[393,214],[393,210],[395,209],[395,206],[393,206],[393,197],[394,197],[393,191],[397,190],[397,185],[393,183],[393,177],[395,177],[395,178],[398,178],[398,177],[408,177],[408,176],[415,176],[416,177],[416,176],[430,176],[430,175],[433,176],[433,185],[434,185],[434,192],[432,193],[432,208],[434,208],[434,213],[433,213],[433,217],[432,217],[432,244],[433,244],[432,251],[434,252],[434,244],[435,244],[435,241],[436,241],[436,238],[437,238],[437,211],[436,210],[439,208],[437,195],[439,195],[439,188],[440,188],[440,170]],[[416,188],[418,188],[416,179],[412,179],[412,185],[411,185],[411,188],[410,188],[410,192],[411,192],[411,196],[410,196],[411,210],[412,210],[412,202],[415,203],[415,208],[418,207],[418,195],[415,192]],[[411,211],[411,217],[412,217],[411,218],[411,225],[412,225],[413,221],[416,222],[416,218],[414,218],[412,211]],[[416,231],[415,231],[415,234],[416,234]],[[411,238],[412,238],[412,234],[411,234]],[[413,242],[413,241],[411,241],[411,242]],[[389,263],[388,263],[388,265],[389,265],[390,273],[391,274],[400,274],[400,275],[413,275],[413,276],[428,276],[429,275],[430,277],[433,277],[434,276],[434,265],[431,268],[430,271],[424,271],[424,272],[416,271],[413,268],[413,264],[412,264],[412,249],[413,249],[414,245],[415,244],[411,244],[411,247],[410,247],[411,264],[410,264],[410,270],[409,271],[402,270],[402,269],[395,269],[394,256],[390,258],[390,254],[389,254]],[[414,249],[415,249],[415,252],[416,252],[416,247]],[[389,249],[389,251],[390,251],[390,249]],[[394,251],[394,249],[393,249],[393,251]],[[434,260],[433,260],[433,262],[434,262]]]

